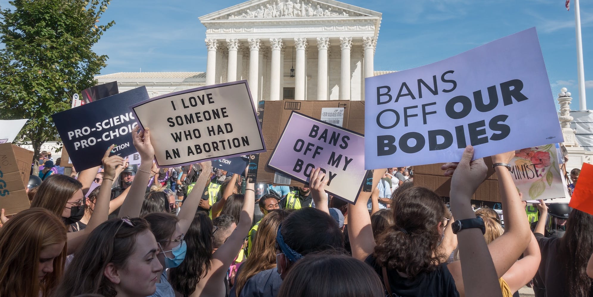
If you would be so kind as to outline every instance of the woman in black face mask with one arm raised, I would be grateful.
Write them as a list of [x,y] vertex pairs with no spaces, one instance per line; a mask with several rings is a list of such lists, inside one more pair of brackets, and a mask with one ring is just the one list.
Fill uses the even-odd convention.
[[[76,248],[81,246],[87,238],[88,234],[101,224],[101,222],[107,220],[111,185],[116,175],[116,168],[124,165],[122,157],[109,157],[112,149],[113,146],[110,146],[103,157],[105,176],[103,177],[103,183],[101,183],[93,215],[91,215],[88,221],[87,228],[68,233],[68,254],[74,253]],[[61,217],[64,224],[70,225],[80,221],[84,216],[85,199],[82,194],[82,184],[78,180],[65,175],[52,175],[47,177],[39,186],[39,190],[31,202],[31,207],[48,209],[58,217]]]

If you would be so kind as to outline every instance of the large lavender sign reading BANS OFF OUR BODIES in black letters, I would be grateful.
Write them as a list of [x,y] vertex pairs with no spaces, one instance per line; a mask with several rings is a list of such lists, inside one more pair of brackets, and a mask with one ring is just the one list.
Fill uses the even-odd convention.
[[365,168],[459,162],[562,140],[535,28],[365,79]]

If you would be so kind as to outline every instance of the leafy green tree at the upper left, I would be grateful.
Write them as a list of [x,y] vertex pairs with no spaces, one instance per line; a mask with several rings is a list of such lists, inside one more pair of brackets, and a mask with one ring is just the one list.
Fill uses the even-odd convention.
[[30,119],[20,136],[35,156],[45,141],[59,140],[51,116],[70,108],[72,95],[94,86],[106,66],[92,47],[115,24],[100,25],[109,2],[15,0],[0,11],[0,118]]

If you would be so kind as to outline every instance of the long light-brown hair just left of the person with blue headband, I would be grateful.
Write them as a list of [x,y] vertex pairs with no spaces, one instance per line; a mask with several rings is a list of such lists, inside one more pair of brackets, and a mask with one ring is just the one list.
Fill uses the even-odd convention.
[[246,262],[241,264],[232,292],[241,292],[247,280],[263,270],[276,267],[276,234],[278,226],[290,214],[286,209],[270,211],[260,222],[253,249]]

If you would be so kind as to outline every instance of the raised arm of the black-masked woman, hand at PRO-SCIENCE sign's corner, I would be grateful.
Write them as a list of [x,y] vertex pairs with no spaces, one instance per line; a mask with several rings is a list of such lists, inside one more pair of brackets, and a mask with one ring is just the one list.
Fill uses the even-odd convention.
[[88,221],[87,227],[84,230],[69,232],[68,235],[68,254],[74,253],[79,246],[87,239],[88,234],[94,230],[98,225],[107,220],[109,216],[109,199],[111,198],[111,186],[115,178],[116,168],[124,164],[124,160],[120,156],[111,156],[109,153],[113,149],[114,145],[111,145],[105,152],[103,157],[103,166],[105,168],[105,175],[103,177],[103,183],[99,189],[99,195],[95,202],[93,214]]

